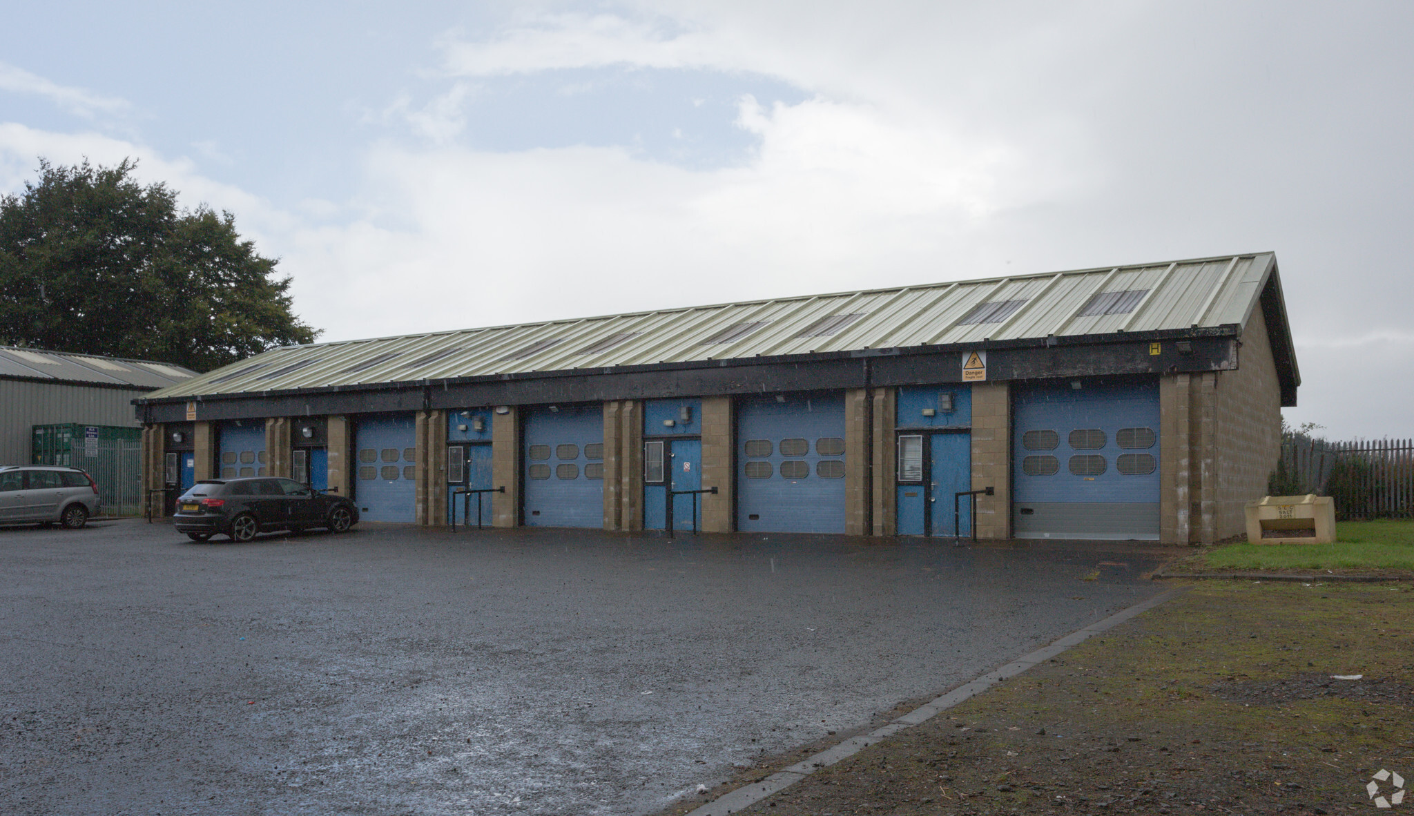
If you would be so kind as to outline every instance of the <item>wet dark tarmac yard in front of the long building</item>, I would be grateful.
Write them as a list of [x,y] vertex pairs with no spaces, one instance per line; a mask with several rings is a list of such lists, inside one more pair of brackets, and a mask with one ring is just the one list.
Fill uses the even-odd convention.
[[1168,554],[0,529],[0,810],[652,812],[1158,594]]

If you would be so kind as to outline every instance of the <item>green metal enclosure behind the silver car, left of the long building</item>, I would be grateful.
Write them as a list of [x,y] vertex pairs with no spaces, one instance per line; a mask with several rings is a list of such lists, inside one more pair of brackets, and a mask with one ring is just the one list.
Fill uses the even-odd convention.
[[141,429],[76,423],[34,426],[30,450],[31,464],[82,468],[93,477],[100,513],[141,515]]

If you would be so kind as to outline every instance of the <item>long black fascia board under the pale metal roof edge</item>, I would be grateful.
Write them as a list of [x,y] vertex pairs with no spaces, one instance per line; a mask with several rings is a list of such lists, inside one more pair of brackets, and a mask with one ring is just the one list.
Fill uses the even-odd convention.
[[[1237,366],[1237,327],[936,346],[854,349],[598,369],[361,383],[277,392],[134,399],[143,421],[322,416],[489,404],[546,404],[962,382],[962,354],[988,351],[988,380],[1223,371]],[[1189,352],[1175,341],[1186,339]],[[1151,354],[1158,342],[1161,354]]]

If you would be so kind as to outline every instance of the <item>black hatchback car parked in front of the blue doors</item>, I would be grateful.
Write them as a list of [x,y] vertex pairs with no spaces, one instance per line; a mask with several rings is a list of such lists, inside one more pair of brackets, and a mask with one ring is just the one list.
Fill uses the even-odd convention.
[[263,530],[325,528],[342,533],[358,523],[358,508],[294,479],[204,479],[177,499],[173,520],[177,532],[194,542],[216,533],[249,542]]

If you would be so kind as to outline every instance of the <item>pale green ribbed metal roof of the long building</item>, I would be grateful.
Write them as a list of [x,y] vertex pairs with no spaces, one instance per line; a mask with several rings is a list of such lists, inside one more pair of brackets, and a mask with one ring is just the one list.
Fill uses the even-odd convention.
[[1236,255],[286,346],[148,399],[1246,325],[1274,270]]

